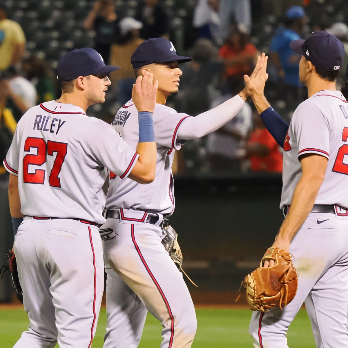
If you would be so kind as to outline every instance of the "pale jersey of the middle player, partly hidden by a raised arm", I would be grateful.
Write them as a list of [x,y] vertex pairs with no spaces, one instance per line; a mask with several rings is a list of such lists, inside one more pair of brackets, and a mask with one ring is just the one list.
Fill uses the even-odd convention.
[[[155,180],[147,185],[121,178],[110,173],[110,186],[106,198],[106,209],[133,209],[152,213],[172,214],[175,206],[172,163],[174,151],[187,140],[178,141],[177,131],[188,116],[177,113],[169,106],[156,104],[153,126],[157,143]],[[135,146],[139,139],[138,111],[132,100],[116,114],[112,125],[122,139]]]

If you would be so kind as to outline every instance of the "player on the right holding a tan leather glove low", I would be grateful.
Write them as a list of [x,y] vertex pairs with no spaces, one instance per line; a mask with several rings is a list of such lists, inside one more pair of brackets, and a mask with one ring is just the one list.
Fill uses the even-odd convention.
[[[254,312],[249,330],[255,347],[287,347],[288,326],[304,302],[316,346],[348,347],[348,102],[335,86],[344,48],[323,31],[290,46],[301,55],[299,77],[308,99],[296,108],[285,136],[285,220],[272,246],[294,255],[298,290],[283,311]],[[264,81],[245,80],[258,111],[274,117]]]

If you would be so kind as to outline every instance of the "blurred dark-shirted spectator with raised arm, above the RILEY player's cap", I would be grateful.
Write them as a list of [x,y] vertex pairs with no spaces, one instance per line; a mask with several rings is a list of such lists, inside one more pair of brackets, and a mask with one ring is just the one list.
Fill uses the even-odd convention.
[[86,17],[83,27],[95,30],[94,49],[101,54],[105,64],[109,64],[110,47],[118,32],[118,17],[114,0],[96,0]]

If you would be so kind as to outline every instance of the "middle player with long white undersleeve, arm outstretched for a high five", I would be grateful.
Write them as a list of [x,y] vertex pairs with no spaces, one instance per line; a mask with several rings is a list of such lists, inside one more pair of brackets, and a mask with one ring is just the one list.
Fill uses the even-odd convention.
[[[174,151],[187,140],[214,132],[231,120],[245,105],[246,92],[190,117],[165,106],[167,97],[177,93],[178,63],[191,58],[178,56],[164,38],[144,41],[131,63],[136,76],[150,72],[158,80],[157,104],[153,115],[157,142],[156,178],[149,185],[110,176],[101,229],[106,279],[108,316],[104,348],[134,348],[139,345],[145,317],[150,311],[162,324],[162,348],[191,347],[196,333],[196,314],[181,272],[165,250],[163,228],[175,207],[171,166]],[[259,57],[252,78],[264,64]],[[130,100],[117,112],[113,126],[122,139],[135,144],[138,112]]]

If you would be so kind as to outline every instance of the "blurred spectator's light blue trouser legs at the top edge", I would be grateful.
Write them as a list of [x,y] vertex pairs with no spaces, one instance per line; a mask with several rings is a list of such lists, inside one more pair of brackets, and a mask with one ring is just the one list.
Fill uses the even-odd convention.
[[219,36],[222,40],[230,34],[231,23],[237,23],[241,32],[250,34],[252,24],[250,0],[220,0],[219,17]]

